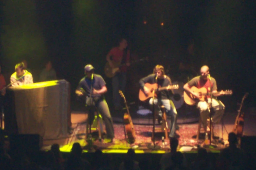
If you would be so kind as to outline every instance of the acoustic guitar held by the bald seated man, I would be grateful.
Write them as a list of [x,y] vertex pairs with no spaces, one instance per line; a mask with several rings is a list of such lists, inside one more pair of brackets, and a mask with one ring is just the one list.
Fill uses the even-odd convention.
[[[211,94],[219,94],[220,92],[207,92],[207,89],[205,87],[202,87],[200,89],[198,89],[195,86],[191,87],[191,91],[192,92],[197,92],[200,94],[199,98],[196,98],[193,94],[191,94],[190,92],[184,91],[183,92],[183,96],[184,96],[184,101],[186,104],[188,105],[195,105],[197,101],[205,101],[205,98],[207,95],[211,95]],[[232,90],[226,90],[224,91],[223,95],[231,95],[233,94]]]

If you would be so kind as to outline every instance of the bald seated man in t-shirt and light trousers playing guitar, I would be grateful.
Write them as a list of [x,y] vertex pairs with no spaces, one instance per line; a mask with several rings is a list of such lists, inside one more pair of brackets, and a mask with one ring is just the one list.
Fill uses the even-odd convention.
[[[213,77],[210,77],[209,74],[209,67],[207,65],[204,65],[201,67],[200,74],[201,76],[197,76],[195,78],[192,78],[189,82],[187,82],[183,88],[187,92],[190,92],[193,94],[196,98],[200,97],[200,94],[198,92],[193,92],[191,90],[192,86],[199,88],[206,88],[207,92],[212,92],[214,97],[220,96],[223,94],[223,91],[214,94],[217,92],[217,85],[216,85],[216,80]],[[210,84],[211,82],[211,84]],[[211,87],[211,89],[210,89]],[[197,108],[200,111],[200,116],[203,122],[204,130],[207,132],[207,118],[209,118],[209,106],[211,104],[211,96],[207,95],[205,101],[199,101],[197,102]],[[213,123],[219,123],[223,114],[224,114],[224,109],[225,106],[220,100],[214,99],[212,100],[212,108],[214,109],[214,115],[213,115]]]

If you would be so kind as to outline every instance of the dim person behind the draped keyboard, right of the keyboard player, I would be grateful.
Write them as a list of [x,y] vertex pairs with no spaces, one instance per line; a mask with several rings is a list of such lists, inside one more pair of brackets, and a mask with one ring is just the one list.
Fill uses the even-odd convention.
[[39,81],[50,81],[50,80],[56,80],[56,72],[54,68],[52,68],[52,62],[47,61],[45,64],[45,68],[40,73]]

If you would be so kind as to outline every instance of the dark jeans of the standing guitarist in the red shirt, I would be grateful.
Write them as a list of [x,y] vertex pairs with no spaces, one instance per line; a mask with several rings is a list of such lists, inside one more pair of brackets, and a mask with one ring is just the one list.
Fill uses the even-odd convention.
[[125,93],[126,75],[127,73],[120,72],[120,73],[117,73],[112,78],[113,101],[114,101],[115,107],[121,106],[120,104],[121,96],[119,94],[119,90]]

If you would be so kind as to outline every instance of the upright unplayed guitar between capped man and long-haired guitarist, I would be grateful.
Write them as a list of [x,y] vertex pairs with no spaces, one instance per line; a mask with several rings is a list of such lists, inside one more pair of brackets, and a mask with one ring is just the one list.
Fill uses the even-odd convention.
[[135,142],[135,138],[136,138],[136,134],[135,134],[135,129],[131,120],[131,116],[130,116],[130,112],[129,112],[129,108],[127,106],[127,102],[125,99],[125,95],[123,94],[123,92],[121,90],[119,90],[119,94],[121,95],[121,97],[124,99],[124,103],[125,103],[125,107],[127,110],[127,113],[124,114],[124,125],[125,125],[125,131],[127,134],[127,142],[129,144],[132,144]]

